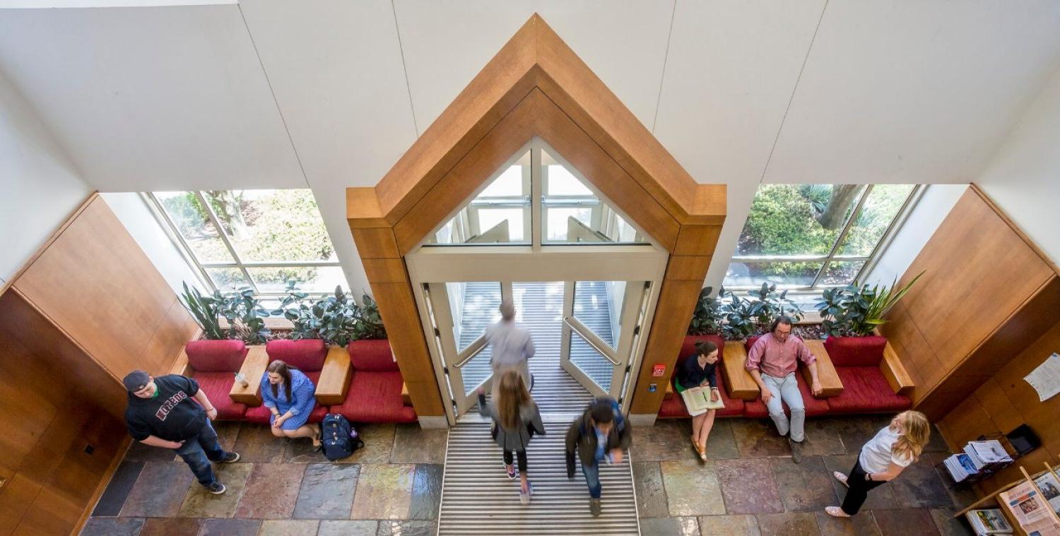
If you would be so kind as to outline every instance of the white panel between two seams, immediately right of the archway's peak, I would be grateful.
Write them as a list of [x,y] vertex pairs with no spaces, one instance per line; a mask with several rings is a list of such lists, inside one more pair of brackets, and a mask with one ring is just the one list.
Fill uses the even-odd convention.
[[824,4],[677,3],[655,136],[696,181],[758,184]]

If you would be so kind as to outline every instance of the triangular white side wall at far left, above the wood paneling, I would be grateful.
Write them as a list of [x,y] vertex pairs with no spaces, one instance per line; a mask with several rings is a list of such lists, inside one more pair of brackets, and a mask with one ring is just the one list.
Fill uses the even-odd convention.
[[8,280],[92,193],[0,73],[0,278]]

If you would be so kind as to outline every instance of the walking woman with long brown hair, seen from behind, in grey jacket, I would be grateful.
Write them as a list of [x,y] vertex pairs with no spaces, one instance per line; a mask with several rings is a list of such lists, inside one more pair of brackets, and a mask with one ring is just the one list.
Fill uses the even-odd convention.
[[541,412],[517,369],[508,369],[501,373],[497,387],[493,390],[493,398],[495,404],[487,403],[485,391],[478,388],[478,413],[493,419],[491,434],[497,446],[505,451],[505,470],[510,479],[515,478],[512,453],[518,458],[519,502],[530,504],[533,486],[527,476],[527,447],[533,434],[545,435]]

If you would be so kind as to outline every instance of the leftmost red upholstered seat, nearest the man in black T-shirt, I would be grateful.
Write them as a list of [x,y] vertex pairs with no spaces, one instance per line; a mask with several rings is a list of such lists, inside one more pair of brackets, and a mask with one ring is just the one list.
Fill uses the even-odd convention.
[[199,389],[217,409],[220,421],[238,421],[247,411],[246,405],[232,400],[229,392],[235,373],[247,357],[247,346],[238,340],[198,340],[184,346],[192,377]]

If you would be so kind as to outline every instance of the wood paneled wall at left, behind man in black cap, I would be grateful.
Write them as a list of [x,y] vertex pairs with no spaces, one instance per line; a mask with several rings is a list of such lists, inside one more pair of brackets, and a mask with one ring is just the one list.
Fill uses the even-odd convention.
[[0,294],[0,534],[80,529],[129,442],[121,378],[167,372],[196,329],[89,197]]

